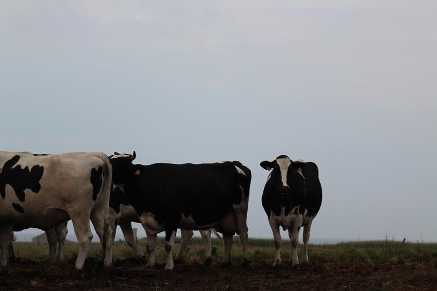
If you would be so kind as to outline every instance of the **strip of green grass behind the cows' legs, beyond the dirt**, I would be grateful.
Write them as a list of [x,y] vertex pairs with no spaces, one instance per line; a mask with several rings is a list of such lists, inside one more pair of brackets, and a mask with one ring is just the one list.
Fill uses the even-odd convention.
[[[146,253],[146,240],[139,240],[141,250]],[[179,249],[180,239],[176,239],[173,254]],[[45,260],[49,257],[47,244],[33,244],[30,242],[14,242],[15,254],[19,259]],[[298,255],[302,256],[303,246],[298,246]],[[114,259],[135,258],[134,251],[125,242],[115,242]],[[290,243],[283,240],[281,247],[281,258],[283,261],[290,259]],[[66,244],[66,259],[75,259],[77,256],[77,245]],[[92,243],[89,256],[95,259],[101,258],[100,243]],[[223,246],[217,239],[212,239],[212,258],[220,260],[223,256]],[[269,239],[250,239],[248,256],[252,262],[268,263],[273,261],[273,241]],[[165,261],[164,238],[158,238],[156,242],[156,262]],[[423,242],[396,242],[396,241],[365,241],[365,242],[341,242],[337,244],[310,244],[308,257],[311,261],[355,261],[372,263],[435,263],[437,265],[437,243]],[[185,252],[185,260],[191,262],[202,262],[204,249],[201,238],[192,238]],[[234,237],[232,247],[233,261],[242,259],[241,244],[238,237]]]

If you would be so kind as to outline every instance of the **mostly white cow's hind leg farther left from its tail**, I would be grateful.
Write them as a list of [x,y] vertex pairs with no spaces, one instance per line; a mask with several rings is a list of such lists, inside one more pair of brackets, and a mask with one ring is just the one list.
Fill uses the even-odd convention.
[[71,221],[73,222],[74,233],[77,237],[78,253],[76,259],[76,269],[81,270],[84,267],[86,256],[88,255],[89,245],[93,234],[89,227],[89,215],[86,213],[79,213],[77,215],[71,215]]

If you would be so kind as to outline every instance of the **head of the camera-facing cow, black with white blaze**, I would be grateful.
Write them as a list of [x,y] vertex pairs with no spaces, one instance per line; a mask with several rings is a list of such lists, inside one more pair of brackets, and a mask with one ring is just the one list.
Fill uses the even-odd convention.
[[261,167],[271,173],[267,180],[271,180],[276,186],[278,193],[285,195],[290,192],[290,187],[293,187],[296,179],[301,182],[302,176],[300,172],[305,168],[305,163],[300,160],[293,162],[286,155],[277,157],[272,162],[263,161]]

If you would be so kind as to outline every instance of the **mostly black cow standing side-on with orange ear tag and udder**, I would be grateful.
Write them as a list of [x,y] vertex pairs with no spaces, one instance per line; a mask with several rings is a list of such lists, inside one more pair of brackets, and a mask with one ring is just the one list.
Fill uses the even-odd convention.
[[133,164],[133,155],[109,157],[113,182],[124,187],[147,235],[147,265],[155,264],[156,234],[165,231],[165,270],[174,267],[172,247],[178,228],[223,233],[223,263],[230,263],[232,236],[240,235],[247,261],[250,170],[240,162]]

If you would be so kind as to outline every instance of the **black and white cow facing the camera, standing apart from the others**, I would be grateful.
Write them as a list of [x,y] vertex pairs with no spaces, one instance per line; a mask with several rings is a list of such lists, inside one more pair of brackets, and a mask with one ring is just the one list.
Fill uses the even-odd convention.
[[261,167],[272,170],[264,187],[262,204],[273,231],[276,249],[273,266],[281,263],[280,226],[288,230],[293,265],[299,263],[297,244],[299,230],[304,226],[302,261],[307,262],[311,224],[322,200],[319,169],[314,162],[293,162],[285,155],[272,162],[261,162]]

